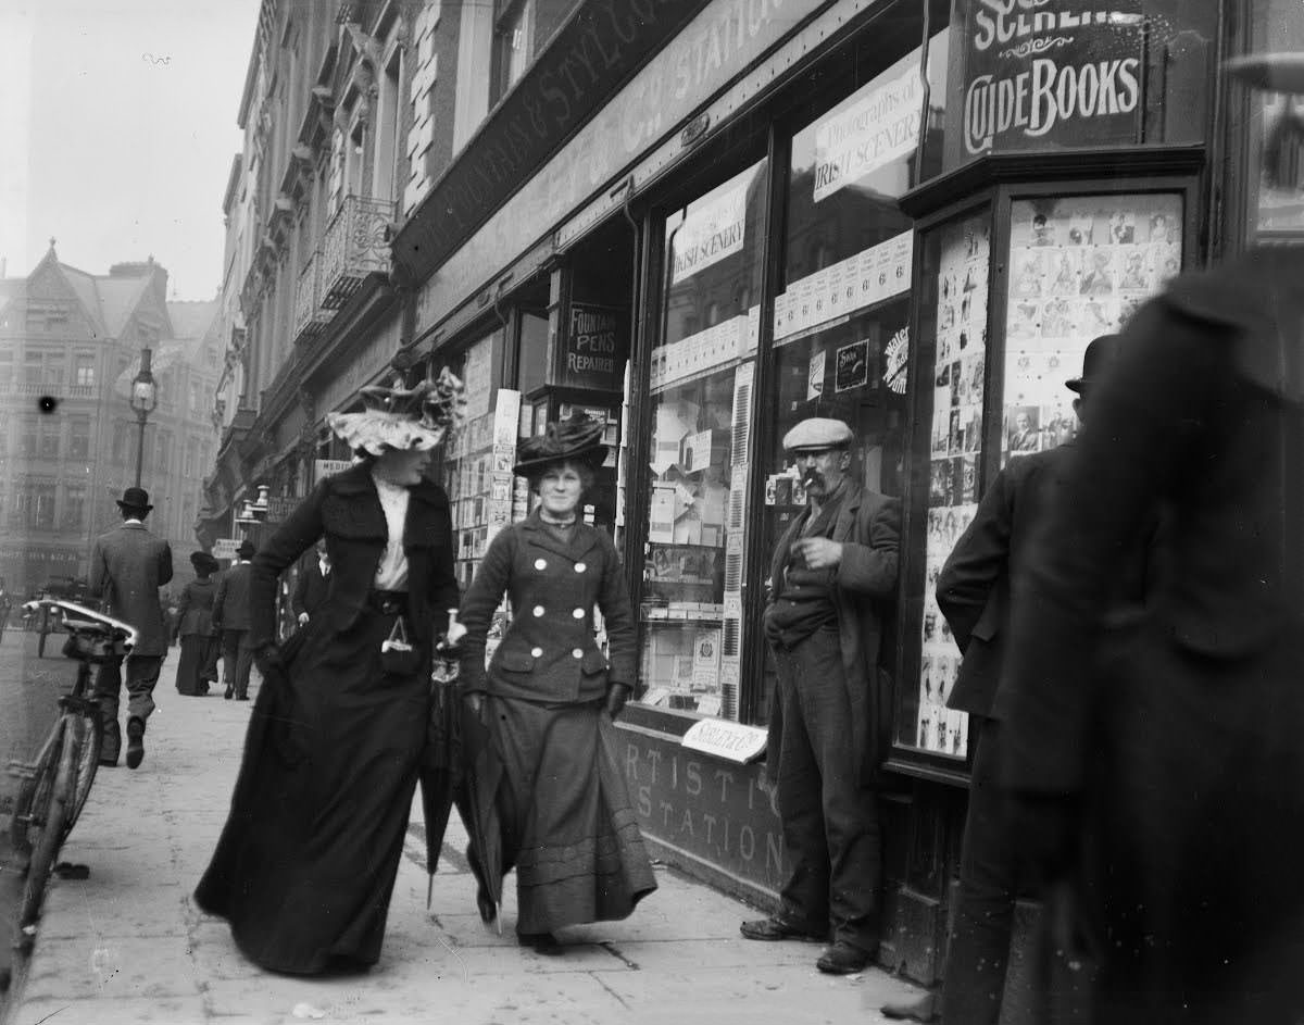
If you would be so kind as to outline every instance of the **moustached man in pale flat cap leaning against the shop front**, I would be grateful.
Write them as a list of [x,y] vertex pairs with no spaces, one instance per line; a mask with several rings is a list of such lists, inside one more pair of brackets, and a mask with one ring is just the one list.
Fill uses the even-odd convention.
[[767,775],[788,880],[775,915],[742,923],[747,939],[828,943],[816,966],[829,974],[859,972],[879,945],[879,648],[901,535],[900,499],[848,476],[852,441],[820,417],[784,437],[807,497],[775,553],[764,619],[777,674]]

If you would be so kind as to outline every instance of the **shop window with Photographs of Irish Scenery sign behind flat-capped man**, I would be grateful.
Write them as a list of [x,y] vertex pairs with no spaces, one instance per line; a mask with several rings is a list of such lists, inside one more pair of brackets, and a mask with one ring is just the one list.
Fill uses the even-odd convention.
[[[938,60],[935,43],[932,67]],[[854,484],[905,492],[914,224],[896,201],[914,181],[915,147],[911,133],[884,136],[882,128],[902,108],[917,116],[918,67],[915,51],[792,140],[782,291],[773,310],[777,394],[764,438],[767,553],[806,509],[782,437],[807,417],[852,428]],[[866,145],[885,137],[897,143]],[[769,708],[773,672],[767,651],[758,717]]]

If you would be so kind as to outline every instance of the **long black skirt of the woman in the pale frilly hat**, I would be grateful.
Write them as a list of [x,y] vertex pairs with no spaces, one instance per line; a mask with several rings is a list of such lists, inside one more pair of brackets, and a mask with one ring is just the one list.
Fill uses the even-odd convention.
[[310,623],[259,689],[231,814],[196,891],[273,972],[376,964],[425,741],[429,665],[381,669],[394,616]]

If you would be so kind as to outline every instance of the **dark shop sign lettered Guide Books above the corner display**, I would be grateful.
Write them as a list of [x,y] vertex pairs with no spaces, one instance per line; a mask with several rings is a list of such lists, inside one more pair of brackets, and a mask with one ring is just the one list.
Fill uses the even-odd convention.
[[974,0],[966,151],[1134,141],[1141,26],[1140,0]]

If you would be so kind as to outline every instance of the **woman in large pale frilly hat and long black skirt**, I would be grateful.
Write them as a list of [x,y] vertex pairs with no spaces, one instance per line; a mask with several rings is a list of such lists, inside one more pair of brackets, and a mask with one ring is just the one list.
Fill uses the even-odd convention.
[[[365,412],[327,417],[363,462],[321,481],[253,559],[265,686],[196,891],[274,972],[379,958],[426,734],[433,629],[458,605],[449,499],[422,472],[460,417],[462,385],[445,372],[364,399]],[[276,578],[322,536],[329,593],[278,649]]]

